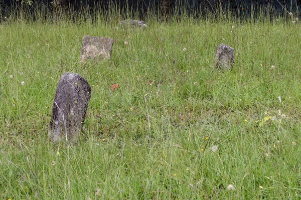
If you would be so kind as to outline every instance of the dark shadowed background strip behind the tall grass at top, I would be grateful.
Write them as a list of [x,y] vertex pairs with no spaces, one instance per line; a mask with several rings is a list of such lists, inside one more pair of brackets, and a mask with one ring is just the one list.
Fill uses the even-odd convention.
[[217,11],[231,11],[240,17],[260,12],[276,16],[292,12],[294,16],[300,16],[301,0],[0,0],[0,8],[1,18],[16,16],[18,11],[35,15],[37,10],[52,12],[56,8],[61,8],[61,12],[85,10],[90,13],[113,9],[124,16],[136,14],[141,20],[149,12],[165,18],[183,13],[200,17]]

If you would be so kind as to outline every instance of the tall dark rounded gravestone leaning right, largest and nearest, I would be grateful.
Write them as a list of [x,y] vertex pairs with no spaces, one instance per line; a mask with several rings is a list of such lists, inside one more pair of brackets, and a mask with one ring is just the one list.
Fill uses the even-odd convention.
[[79,74],[62,75],[53,102],[48,135],[54,142],[76,141],[91,98],[91,87]]

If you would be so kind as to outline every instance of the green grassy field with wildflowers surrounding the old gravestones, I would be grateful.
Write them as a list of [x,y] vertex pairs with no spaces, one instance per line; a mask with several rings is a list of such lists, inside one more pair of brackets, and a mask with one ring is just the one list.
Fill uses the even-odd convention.
[[[12,20],[0,33],[0,199],[301,198],[297,20]],[[84,35],[114,38],[111,59],[80,64]],[[232,71],[213,67],[221,43]],[[47,136],[65,72],[92,88],[70,147]]]

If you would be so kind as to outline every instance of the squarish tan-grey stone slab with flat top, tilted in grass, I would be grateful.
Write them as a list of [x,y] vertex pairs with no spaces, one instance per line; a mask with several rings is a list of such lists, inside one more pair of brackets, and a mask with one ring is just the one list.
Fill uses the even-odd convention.
[[80,51],[81,63],[85,63],[87,59],[110,59],[113,43],[114,39],[112,38],[84,36]]

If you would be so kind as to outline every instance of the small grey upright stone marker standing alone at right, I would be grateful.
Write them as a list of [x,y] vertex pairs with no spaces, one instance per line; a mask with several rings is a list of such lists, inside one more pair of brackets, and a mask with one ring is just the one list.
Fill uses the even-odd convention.
[[234,49],[225,44],[216,48],[214,55],[214,67],[218,69],[232,69],[234,64]]

